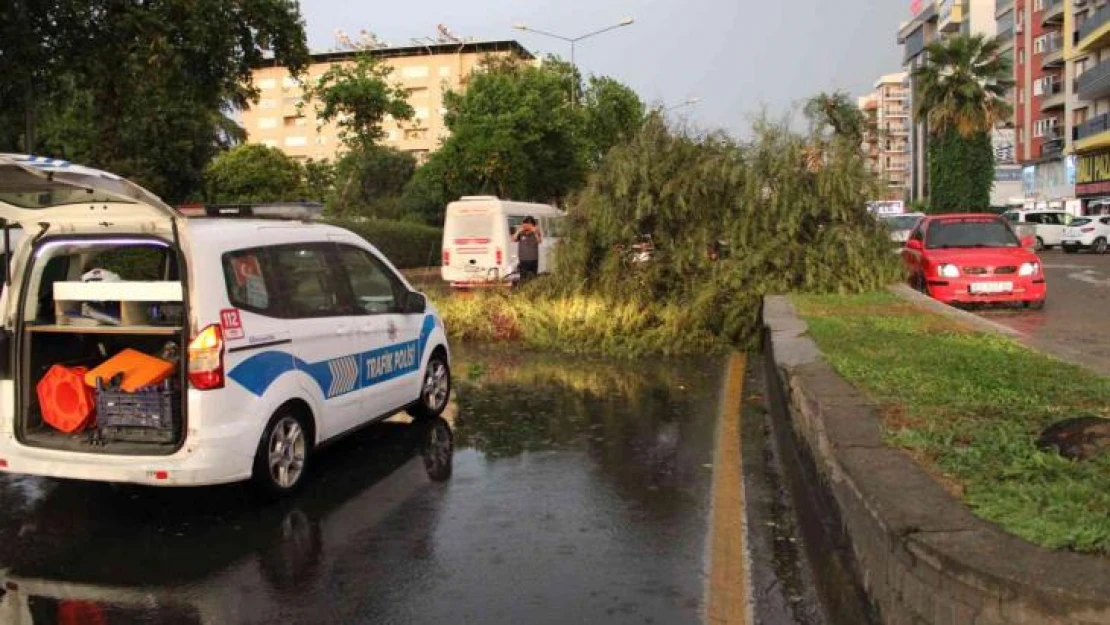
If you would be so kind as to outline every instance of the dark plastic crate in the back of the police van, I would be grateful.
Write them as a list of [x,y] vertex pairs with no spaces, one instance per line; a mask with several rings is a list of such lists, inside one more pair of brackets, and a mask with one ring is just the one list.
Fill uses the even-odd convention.
[[98,387],[97,427],[105,441],[172,443],[180,405],[181,393],[169,381],[134,393]]

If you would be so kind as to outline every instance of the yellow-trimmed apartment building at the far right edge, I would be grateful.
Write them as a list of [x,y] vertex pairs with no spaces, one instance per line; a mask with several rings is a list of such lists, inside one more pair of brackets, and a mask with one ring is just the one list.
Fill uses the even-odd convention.
[[1079,214],[1110,212],[1110,2],[1067,0],[1064,54],[1076,80],[1069,102]]

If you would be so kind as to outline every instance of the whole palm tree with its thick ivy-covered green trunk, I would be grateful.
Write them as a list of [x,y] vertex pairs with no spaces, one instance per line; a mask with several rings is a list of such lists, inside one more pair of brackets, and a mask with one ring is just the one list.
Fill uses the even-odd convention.
[[1001,41],[958,36],[930,43],[928,61],[914,71],[915,113],[929,125],[929,203],[938,212],[990,205],[995,155],[990,133],[1012,113],[1013,85]]

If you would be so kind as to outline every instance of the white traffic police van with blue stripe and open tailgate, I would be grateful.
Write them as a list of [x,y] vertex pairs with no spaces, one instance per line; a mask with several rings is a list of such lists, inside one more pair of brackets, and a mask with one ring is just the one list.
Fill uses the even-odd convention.
[[[436,311],[349,231],[186,219],[110,173],[13,154],[0,154],[0,220],[23,230],[0,298],[0,471],[151,485],[253,477],[285,493],[322,444],[447,405]],[[119,280],[83,282],[91,269]],[[176,361],[153,390],[158,430],[105,436],[44,421],[47,371],[123,350]]]

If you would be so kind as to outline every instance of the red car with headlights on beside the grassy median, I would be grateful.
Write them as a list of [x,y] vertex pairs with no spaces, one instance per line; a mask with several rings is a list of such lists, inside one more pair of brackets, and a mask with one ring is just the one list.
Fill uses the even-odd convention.
[[922,219],[902,249],[910,283],[947,304],[1045,305],[1045,270],[1032,236],[1002,218],[956,213]]

